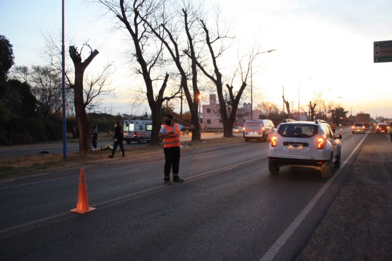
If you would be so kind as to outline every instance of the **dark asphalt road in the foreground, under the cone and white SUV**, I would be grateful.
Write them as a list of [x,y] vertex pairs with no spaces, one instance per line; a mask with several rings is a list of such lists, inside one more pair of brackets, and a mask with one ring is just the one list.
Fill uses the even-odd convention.
[[[75,208],[79,169],[0,184],[1,259],[292,260],[358,153],[343,132],[330,180],[308,168],[271,176],[267,143],[181,151],[181,184],[163,184],[163,155],[85,168],[95,211]],[[163,153],[162,153],[163,154]]]

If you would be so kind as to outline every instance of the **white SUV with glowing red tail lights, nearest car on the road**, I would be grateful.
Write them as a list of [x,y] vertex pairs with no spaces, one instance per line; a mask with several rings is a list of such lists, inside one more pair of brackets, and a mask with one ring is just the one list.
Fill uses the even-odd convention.
[[268,168],[273,175],[285,165],[319,169],[323,178],[340,166],[341,135],[324,120],[280,123],[268,149]]

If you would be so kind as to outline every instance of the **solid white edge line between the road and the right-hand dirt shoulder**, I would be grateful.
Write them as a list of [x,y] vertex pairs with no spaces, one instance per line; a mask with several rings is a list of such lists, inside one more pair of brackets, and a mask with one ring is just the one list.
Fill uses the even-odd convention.
[[301,211],[301,213],[291,222],[291,224],[284,230],[284,232],[279,236],[275,243],[269,248],[269,250],[263,255],[260,261],[271,261],[275,255],[279,252],[280,248],[287,242],[288,238],[296,231],[300,226],[301,222],[309,214],[312,208],[316,205],[317,201],[323,196],[324,192],[328,189],[329,185],[334,181],[334,179],[339,175],[340,171],[344,168],[347,162],[351,159],[354,153],[358,150],[359,146],[365,140],[369,132],[362,138],[359,144],[351,152],[350,156],[344,161],[336,173],[330,178],[327,183],[319,190],[319,192],[312,198],[308,205]]

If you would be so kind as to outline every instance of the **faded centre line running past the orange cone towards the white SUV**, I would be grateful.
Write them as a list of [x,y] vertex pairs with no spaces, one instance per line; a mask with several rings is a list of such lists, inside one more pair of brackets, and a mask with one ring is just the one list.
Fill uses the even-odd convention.
[[[186,178],[185,180],[191,180],[191,179],[195,179],[195,178],[200,178],[202,176],[208,177],[211,174],[217,174],[217,173],[220,173],[220,172],[222,172],[224,170],[230,170],[230,169],[236,168],[238,166],[241,166],[243,164],[247,164],[247,163],[250,163],[250,162],[253,162],[253,161],[257,161],[257,160],[260,160],[260,159],[263,159],[263,158],[266,158],[266,157],[267,156],[262,156],[262,157],[258,157],[256,159],[252,159],[252,160],[244,161],[244,162],[241,162],[241,163],[237,163],[237,164],[225,167],[225,168],[221,168],[221,169],[205,172],[203,174],[199,174],[199,175],[196,175],[196,176],[193,176],[193,177]],[[134,197],[134,196],[138,196],[138,195],[142,195],[142,194],[145,194],[145,193],[148,193],[148,192],[154,192],[154,191],[156,191],[158,189],[161,189],[163,187],[168,187],[168,186],[169,185],[159,185],[159,186],[156,186],[156,187],[153,187],[153,188],[149,188],[149,189],[145,189],[145,190],[142,190],[142,191],[134,192],[134,193],[131,193],[131,194],[128,194],[128,195],[125,195],[125,196],[121,196],[121,197],[113,198],[113,199],[110,199],[110,200],[102,201],[102,202],[99,202],[97,204],[94,204],[94,207],[97,207],[97,206],[100,206],[100,205],[104,205],[104,204],[108,204],[108,203],[113,203],[113,202],[120,201],[120,200],[123,200],[123,199],[128,199],[128,198],[131,198],[131,197]],[[111,205],[109,205],[109,206],[111,206]],[[103,207],[101,207],[101,209],[109,207],[109,206],[103,206]],[[37,224],[37,223],[40,223],[40,222],[43,222],[43,221],[46,221],[46,220],[50,220],[50,219],[53,219],[53,218],[62,217],[62,216],[68,215],[68,214],[72,215],[69,212],[65,212],[65,213],[62,213],[62,214],[58,214],[58,215],[53,215],[53,216],[37,219],[37,220],[31,221],[31,222],[27,222],[27,223],[24,223],[24,224],[21,224],[21,225],[9,227],[9,228],[0,230],[0,234],[5,233],[5,232],[9,232],[9,231],[12,231],[12,230],[15,230],[15,229],[19,229],[19,228],[22,228],[22,227],[25,227],[25,226],[34,225],[34,224]]]

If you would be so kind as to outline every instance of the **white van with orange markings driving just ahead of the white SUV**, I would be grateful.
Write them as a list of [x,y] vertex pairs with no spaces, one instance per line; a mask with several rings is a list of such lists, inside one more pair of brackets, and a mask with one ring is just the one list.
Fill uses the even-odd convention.
[[246,142],[252,139],[261,139],[267,142],[275,131],[275,125],[269,119],[248,119],[244,122],[244,138]]

